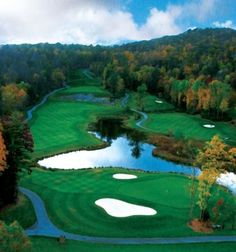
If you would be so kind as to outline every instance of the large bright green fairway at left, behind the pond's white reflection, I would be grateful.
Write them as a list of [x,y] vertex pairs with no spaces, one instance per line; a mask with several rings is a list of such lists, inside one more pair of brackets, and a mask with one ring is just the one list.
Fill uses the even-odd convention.
[[[80,148],[99,147],[102,142],[89,134],[88,126],[98,116],[120,115],[119,105],[65,101],[63,96],[75,93],[92,93],[108,96],[98,80],[96,85],[89,85],[90,79],[81,78],[77,84],[58,92],[33,113],[30,128],[34,139],[34,157],[50,156]],[[85,84],[88,85],[85,85]]]

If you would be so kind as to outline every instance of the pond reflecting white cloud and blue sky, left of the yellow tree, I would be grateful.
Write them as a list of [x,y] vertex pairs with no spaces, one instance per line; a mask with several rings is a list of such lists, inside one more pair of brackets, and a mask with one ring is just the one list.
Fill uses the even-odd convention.
[[[151,172],[176,172],[191,175],[193,168],[175,164],[152,155],[153,145],[145,143],[145,135],[122,127],[118,119],[101,119],[90,132],[109,146],[98,150],[81,150],[40,160],[46,168],[82,169],[95,167],[122,167]],[[195,169],[196,175],[200,173]]]

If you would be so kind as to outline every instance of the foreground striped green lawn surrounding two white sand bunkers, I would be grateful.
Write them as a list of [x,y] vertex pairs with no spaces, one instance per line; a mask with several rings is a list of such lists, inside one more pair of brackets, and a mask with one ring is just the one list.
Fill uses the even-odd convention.
[[[121,181],[114,173],[132,173],[136,180]],[[59,228],[73,233],[107,237],[173,237],[199,235],[188,226],[190,193],[188,177],[177,174],[145,173],[124,169],[60,171],[35,169],[21,184],[43,199],[50,219]],[[43,187],[42,187],[43,185]],[[219,198],[231,194],[215,187],[210,209]],[[154,216],[115,218],[95,205],[101,198],[115,198],[154,208]],[[195,216],[199,210],[195,207]],[[220,234],[235,234],[225,223]],[[201,235],[201,234],[200,234]]]

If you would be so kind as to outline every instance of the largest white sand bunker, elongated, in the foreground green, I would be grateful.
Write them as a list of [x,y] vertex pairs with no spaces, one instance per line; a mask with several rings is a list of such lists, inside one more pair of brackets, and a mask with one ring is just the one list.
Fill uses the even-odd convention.
[[133,215],[155,215],[157,212],[150,208],[127,203],[117,199],[99,199],[95,202],[113,217],[129,217]]

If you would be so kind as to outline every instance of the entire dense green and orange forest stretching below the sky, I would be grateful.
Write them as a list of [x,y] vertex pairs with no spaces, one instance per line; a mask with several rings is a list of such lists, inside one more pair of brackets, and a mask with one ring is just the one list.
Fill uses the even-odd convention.
[[0,47],[0,85],[21,85],[28,94],[26,106],[65,85],[78,68],[102,77],[114,98],[145,84],[150,93],[183,111],[222,119],[236,100],[236,31],[195,29],[112,47]]

